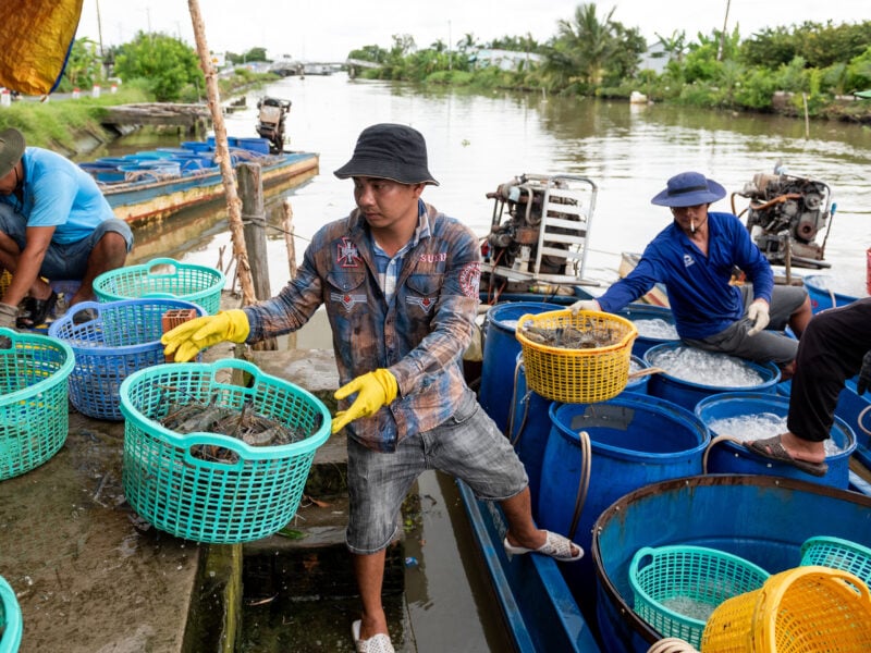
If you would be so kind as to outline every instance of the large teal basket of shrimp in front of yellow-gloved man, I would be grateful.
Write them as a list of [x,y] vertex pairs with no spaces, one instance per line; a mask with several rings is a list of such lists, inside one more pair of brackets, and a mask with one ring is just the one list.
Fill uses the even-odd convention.
[[[250,384],[233,384],[233,370],[246,373]],[[286,445],[249,446],[218,433],[180,434],[160,423],[170,410],[193,402],[247,406],[306,435]],[[133,509],[173,535],[219,544],[265,538],[293,518],[331,424],[329,410],[312,394],[236,359],[134,372],[121,384],[121,411],[126,418],[122,480]],[[196,455],[204,446],[226,455],[204,460]]]

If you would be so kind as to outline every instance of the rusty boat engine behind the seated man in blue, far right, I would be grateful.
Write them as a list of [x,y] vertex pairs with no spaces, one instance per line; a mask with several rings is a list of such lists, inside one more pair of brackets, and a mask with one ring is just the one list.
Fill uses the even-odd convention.
[[[759,173],[738,195],[750,199],[747,229],[772,264],[827,268],[824,258],[831,190],[787,174]],[[822,244],[818,236],[822,234]]]

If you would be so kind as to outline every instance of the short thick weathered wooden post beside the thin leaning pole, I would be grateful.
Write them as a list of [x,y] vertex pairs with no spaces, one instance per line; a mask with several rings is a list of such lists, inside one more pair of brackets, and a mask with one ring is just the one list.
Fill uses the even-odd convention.
[[[263,180],[259,163],[236,165],[238,194],[242,197],[242,224],[245,247],[250,255],[252,276],[256,297],[266,299],[272,296],[269,287],[269,255],[266,246],[266,211],[263,210]],[[260,352],[278,349],[275,338],[255,344],[253,349]]]

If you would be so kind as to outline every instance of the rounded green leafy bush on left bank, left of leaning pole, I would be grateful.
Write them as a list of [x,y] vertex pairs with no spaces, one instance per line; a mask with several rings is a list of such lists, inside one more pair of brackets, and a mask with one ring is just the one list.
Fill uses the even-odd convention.
[[165,34],[139,32],[131,42],[120,48],[115,73],[124,82],[143,79],[160,102],[179,100],[189,85],[205,88],[196,52]]

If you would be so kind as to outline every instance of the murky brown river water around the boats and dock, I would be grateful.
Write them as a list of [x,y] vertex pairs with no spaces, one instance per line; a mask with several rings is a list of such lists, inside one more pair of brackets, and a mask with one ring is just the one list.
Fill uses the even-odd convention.
[[[345,215],[353,206],[352,183],[335,178],[332,171],[351,157],[359,132],[377,122],[401,122],[425,134],[430,170],[441,182],[428,187],[424,198],[465,220],[481,236],[489,231],[493,210],[486,194],[500,183],[523,173],[591,178],[598,196],[587,276],[602,280],[602,289],[617,276],[619,252],[640,251],[668,223],[667,210],[651,206],[650,198],[670,176],[698,170],[734,193],[755,173],[771,172],[782,161],[790,174],[820,180],[832,188],[837,212],[826,241],[825,258],[833,270],[826,273],[849,288],[863,286],[866,250],[871,246],[868,128],[812,123],[806,137],[802,121],[776,116],[538,94],[421,89],[335,74],[287,77],[249,94],[248,108],[226,116],[230,135],[256,136],[255,104],[260,95],[292,100],[290,149],[320,155],[319,175],[267,201],[271,222],[279,224],[281,201],[290,198],[297,258],[318,227]],[[133,135],[106,153],[157,145],[176,140]],[[737,204],[738,210],[745,207],[746,200]],[[714,209],[729,210],[728,198]],[[232,251],[222,205],[138,230],[136,237],[132,263],[160,256],[207,266],[220,261],[225,267]],[[268,251],[277,293],[290,274],[284,237],[278,231],[270,234]],[[329,347],[328,335],[321,330],[309,346]],[[408,587],[418,650],[506,650],[498,606],[482,584],[482,569],[470,551],[474,546],[451,483],[425,476],[419,492],[437,501],[425,515],[427,546],[416,553],[424,574]]]

